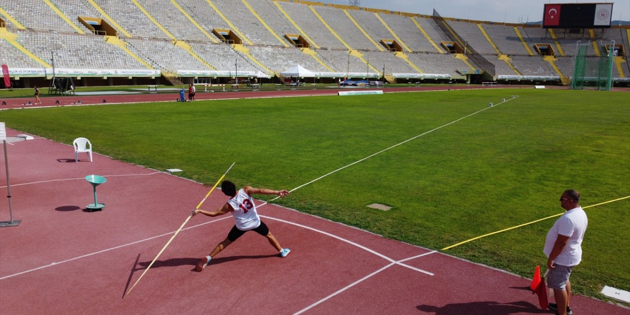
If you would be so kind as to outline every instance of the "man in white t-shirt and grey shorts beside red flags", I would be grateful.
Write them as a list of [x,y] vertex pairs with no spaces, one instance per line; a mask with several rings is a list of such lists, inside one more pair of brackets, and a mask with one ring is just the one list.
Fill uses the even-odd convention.
[[574,266],[582,260],[582,240],[587,231],[587,214],[580,207],[580,193],[565,190],[560,206],[566,210],[547,232],[544,253],[547,255],[547,286],[553,289],[556,304],[549,309],[559,315],[571,315],[571,282],[569,276]]

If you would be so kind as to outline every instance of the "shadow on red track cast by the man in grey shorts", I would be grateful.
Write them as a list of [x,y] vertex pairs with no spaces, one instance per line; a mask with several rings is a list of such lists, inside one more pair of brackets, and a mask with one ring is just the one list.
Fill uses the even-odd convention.
[[433,312],[435,315],[452,315],[452,314],[483,314],[483,315],[508,315],[528,312],[530,314],[549,314],[548,311],[540,309],[529,302],[518,301],[512,303],[499,302],[470,302],[447,304],[443,307],[419,305],[416,309],[423,312]]

